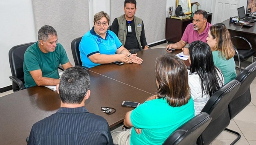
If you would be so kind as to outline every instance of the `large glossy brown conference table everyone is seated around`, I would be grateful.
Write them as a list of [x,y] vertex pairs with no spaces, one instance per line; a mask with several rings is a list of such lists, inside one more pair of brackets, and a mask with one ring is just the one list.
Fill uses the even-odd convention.
[[[175,50],[173,54],[181,52]],[[166,53],[164,48],[138,52],[142,64],[102,64],[88,69],[90,98],[85,107],[91,113],[103,116],[109,127],[123,121],[125,113],[134,109],[122,107],[123,101],[143,103],[157,92],[155,59]],[[184,61],[189,66],[188,61]],[[116,113],[108,115],[101,107],[113,107]],[[60,107],[56,91],[46,87],[31,87],[0,98],[0,144],[26,145],[32,125],[55,113]]]

